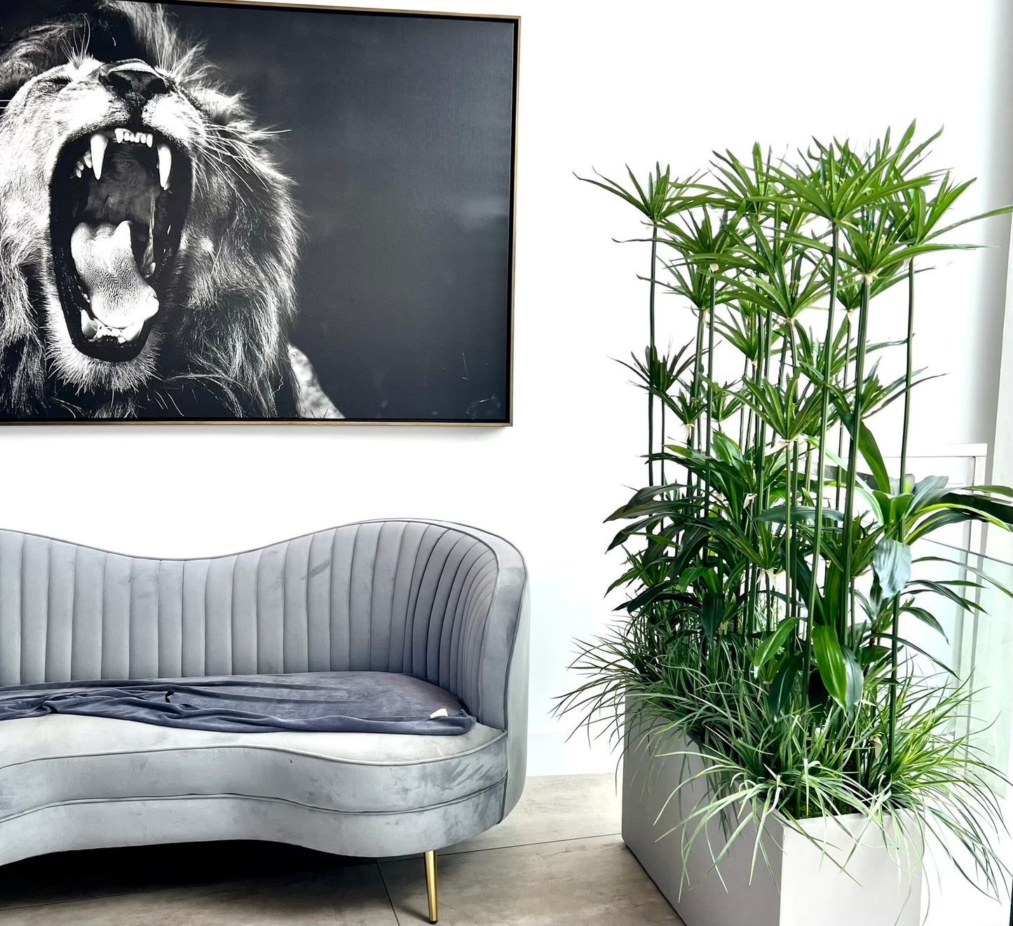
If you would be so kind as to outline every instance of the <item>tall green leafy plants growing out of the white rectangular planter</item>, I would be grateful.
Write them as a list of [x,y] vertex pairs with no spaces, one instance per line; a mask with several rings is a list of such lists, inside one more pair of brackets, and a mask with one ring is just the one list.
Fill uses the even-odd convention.
[[[969,246],[950,233],[973,221],[949,218],[970,183],[925,166],[937,137],[917,142],[912,125],[868,150],[814,142],[777,160],[756,146],[685,181],[660,167],[646,183],[630,172],[629,188],[591,181],[649,233],[651,341],[627,365],[646,391],[649,484],[609,518],[624,524],[610,591],[629,591],[627,616],[581,645],[588,681],[557,709],[621,738],[625,705],[655,756],[702,754],[669,796],[707,785],[674,835],[684,866],[697,840],[713,870],[748,833],[755,873],[769,822],[812,840],[804,821],[857,814],[884,840],[894,826],[912,846],[935,837],[994,896],[1008,873],[993,849],[999,773],[954,732],[971,692],[908,631],[942,633],[934,603],[977,610],[990,582],[914,578],[913,544],[955,523],[1013,524],[1009,488],[907,472],[918,278]],[[871,342],[876,297],[894,286],[906,336]],[[654,340],[661,293],[697,321],[670,354]],[[906,371],[884,381],[889,351]],[[901,479],[869,428],[894,402]],[[719,820],[730,838],[710,844]]]

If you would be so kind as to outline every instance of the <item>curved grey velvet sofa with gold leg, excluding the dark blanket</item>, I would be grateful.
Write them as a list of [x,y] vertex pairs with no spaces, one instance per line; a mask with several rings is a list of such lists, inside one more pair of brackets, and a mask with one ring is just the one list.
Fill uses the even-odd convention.
[[501,821],[525,780],[527,572],[462,525],[370,521],[211,559],[0,531],[0,685],[405,673],[478,718],[455,737],[223,734],[94,716],[0,722],[0,863],[264,839],[427,853]]

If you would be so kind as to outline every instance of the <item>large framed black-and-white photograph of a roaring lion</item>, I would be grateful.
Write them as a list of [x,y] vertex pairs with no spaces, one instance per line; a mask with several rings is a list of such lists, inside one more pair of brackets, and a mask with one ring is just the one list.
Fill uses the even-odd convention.
[[512,421],[519,20],[0,0],[0,421]]

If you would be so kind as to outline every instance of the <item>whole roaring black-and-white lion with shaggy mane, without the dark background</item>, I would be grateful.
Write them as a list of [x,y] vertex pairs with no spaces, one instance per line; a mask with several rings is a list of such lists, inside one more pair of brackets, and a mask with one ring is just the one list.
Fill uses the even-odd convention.
[[0,52],[0,417],[340,417],[271,134],[161,6],[68,5]]

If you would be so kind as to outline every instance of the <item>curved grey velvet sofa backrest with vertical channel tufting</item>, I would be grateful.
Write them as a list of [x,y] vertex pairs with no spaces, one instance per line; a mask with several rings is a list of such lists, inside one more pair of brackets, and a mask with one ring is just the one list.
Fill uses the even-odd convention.
[[503,727],[525,577],[504,540],[441,522],[363,522],[210,559],[0,531],[0,685],[403,672]]

